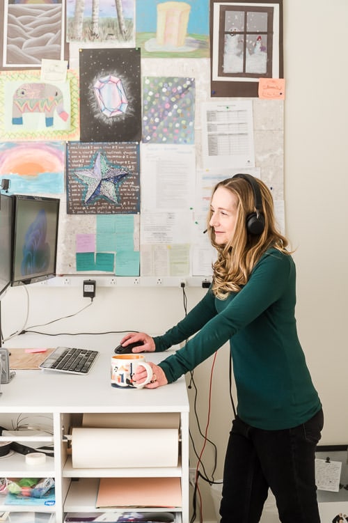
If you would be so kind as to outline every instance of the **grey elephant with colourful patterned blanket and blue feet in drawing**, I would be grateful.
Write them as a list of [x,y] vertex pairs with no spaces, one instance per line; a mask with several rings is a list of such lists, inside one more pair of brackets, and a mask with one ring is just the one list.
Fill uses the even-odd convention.
[[23,125],[24,113],[43,113],[46,127],[52,127],[54,111],[57,111],[58,116],[65,122],[68,120],[69,115],[63,107],[63,93],[52,84],[22,84],[13,94],[13,125]]

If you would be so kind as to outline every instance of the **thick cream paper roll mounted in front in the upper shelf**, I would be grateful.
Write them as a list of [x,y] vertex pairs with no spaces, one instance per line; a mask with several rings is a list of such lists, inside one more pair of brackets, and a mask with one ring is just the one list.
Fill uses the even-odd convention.
[[179,434],[168,428],[73,428],[72,467],[177,467]]

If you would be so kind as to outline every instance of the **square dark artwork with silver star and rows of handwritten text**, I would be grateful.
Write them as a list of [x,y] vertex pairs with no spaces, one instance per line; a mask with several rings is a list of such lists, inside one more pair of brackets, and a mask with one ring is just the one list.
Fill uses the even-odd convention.
[[139,194],[139,143],[68,143],[68,214],[138,214]]

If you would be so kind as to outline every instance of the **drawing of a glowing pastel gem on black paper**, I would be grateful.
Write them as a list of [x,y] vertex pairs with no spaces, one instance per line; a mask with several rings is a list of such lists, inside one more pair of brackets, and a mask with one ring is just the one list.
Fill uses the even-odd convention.
[[81,49],[81,141],[140,141],[140,49]]

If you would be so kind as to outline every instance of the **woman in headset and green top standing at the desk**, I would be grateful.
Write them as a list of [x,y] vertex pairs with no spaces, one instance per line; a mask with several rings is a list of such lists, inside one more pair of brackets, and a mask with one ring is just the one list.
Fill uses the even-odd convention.
[[[230,341],[237,417],[226,451],[221,523],[260,520],[271,488],[283,523],[319,523],[315,447],[323,412],[296,333],[296,274],[287,240],[276,230],[271,193],[251,175],[219,182],[208,229],[217,250],[207,294],[163,336],[133,352],[184,348],[151,364],[148,388],[177,380]],[[126,344],[126,343],[125,343]],[[136,381],[143,381],[141,371]]]

